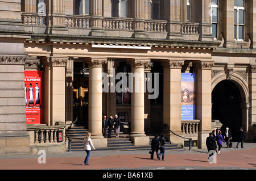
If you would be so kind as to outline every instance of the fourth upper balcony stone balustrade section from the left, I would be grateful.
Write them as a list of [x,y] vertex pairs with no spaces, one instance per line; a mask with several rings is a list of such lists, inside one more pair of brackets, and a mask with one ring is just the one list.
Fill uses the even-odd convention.
[[166,32],[167,21],[165,20],[145,20],[144,31]]

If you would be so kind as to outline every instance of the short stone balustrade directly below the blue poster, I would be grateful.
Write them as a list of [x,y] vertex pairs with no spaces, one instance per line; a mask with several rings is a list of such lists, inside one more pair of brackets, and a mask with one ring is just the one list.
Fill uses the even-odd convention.
[[197,134],[200,120],[181,120],[181,132],[183,134]]

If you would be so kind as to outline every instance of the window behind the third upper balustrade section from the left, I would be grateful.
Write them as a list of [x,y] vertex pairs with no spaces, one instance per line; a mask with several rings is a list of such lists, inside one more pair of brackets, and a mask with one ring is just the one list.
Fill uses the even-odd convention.
[[112,17],[127,17],[127,0],[112,1]]

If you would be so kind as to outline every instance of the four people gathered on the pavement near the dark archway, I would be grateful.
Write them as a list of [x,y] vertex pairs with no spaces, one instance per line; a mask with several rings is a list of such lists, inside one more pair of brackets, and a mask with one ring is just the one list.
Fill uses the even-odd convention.
[[[241,142],[241,148],[243,148],[243,128],[240,128],[238,131],[238,142],[236,145],[236,148],[238,148],[240,142]],[[208,151],[214,150],[217,152],[217,154],[221,154],[221,148],[222,148],[222,142],[226,142],[227,148],[232,147],[232,134],[229,131],[229,128],[226,128],[226,131],[224,132],[223,136],[220,130],[217,130],[217,136],[215,136],[215,130],[213,130],[211,133],[209,133],[209,137],[207,137],[206,145]],[[218,145],[218,151],[217,151],[217,145]],[[211,161],[213,158],[213,153],[209,154],[208,159]]]

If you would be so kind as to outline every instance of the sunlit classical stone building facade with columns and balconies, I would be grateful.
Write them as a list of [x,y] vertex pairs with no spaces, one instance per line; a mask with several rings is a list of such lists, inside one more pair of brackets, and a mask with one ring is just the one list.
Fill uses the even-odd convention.
[[[23,73],[29,70],[43,71],[41,124],[69,124],[78,117],[94,146],[108,142],[101,133],[102,113],[131,123],[135,145],[147,145],[148,132],[164,132],[174,144],[184,145],[177,134],[205,148],[212,120],[234,134],[243,127],[246,140],[255,141],[255,1],[15,0],[0,5],[1,154],[28,153],[36,146],[38,132],[33,127],[31,134],[26,124]],[[150,92],[142,89],[102,92],[98,75],[111,79],[113,69],[159,73],[159,97],[148,99]],[[181,120],[181,73],[196,73],[195,120]],[[144,85],[143,77],[137,83]]]

